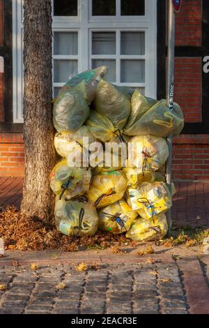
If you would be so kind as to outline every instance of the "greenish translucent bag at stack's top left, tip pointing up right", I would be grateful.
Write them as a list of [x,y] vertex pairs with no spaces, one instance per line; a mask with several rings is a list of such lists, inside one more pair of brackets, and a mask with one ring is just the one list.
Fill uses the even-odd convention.
[[90,103],[107,67],[86,70],[69,80],[54,101],[53,123],[56,131],[77,131],[88,119]]

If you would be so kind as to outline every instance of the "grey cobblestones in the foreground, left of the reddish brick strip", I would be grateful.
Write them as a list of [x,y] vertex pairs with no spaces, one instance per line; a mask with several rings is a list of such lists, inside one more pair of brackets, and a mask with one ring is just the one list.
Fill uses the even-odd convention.
[[[208,272],[208,271],[207,271]],[[176,262],[103,265],[77,272],[70,264],[0,267],[0,314],[189,313]],[[65,288],[57,289],[59,283]]]

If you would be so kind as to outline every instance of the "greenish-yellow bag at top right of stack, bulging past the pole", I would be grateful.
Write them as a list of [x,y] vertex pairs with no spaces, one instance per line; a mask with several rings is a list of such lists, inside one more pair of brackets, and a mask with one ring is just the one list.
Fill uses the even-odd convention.
[[183,112],[177,103],[173,103],[173,111],[169,110],[167,101],[157,101],[131,126],[124,127],[126,135],[157,135],[168,137],[179,135],[184,126]]

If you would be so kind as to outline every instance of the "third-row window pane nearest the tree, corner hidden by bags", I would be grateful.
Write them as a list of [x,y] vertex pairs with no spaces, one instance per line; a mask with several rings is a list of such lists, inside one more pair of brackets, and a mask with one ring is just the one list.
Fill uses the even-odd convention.
[[77,75],[77,60],[54,60],[54,82],[64,83]]

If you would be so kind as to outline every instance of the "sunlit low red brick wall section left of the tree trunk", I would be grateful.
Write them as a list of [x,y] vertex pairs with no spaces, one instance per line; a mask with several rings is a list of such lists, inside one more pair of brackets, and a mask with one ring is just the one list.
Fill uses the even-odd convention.
[[22,134],[0,134],[0,176],[24,176],[24,142]]

